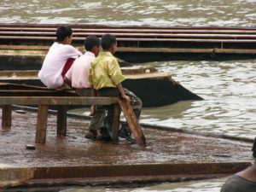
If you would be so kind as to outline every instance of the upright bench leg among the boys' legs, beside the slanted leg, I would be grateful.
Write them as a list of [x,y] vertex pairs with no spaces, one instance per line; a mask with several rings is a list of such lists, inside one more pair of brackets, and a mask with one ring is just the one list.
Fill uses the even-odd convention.
[[119,141],[119,120],[120,120],[121,109],[119,104],[115,104],[113,108],[113,127],[112,127],[112,138],[113,142]]

